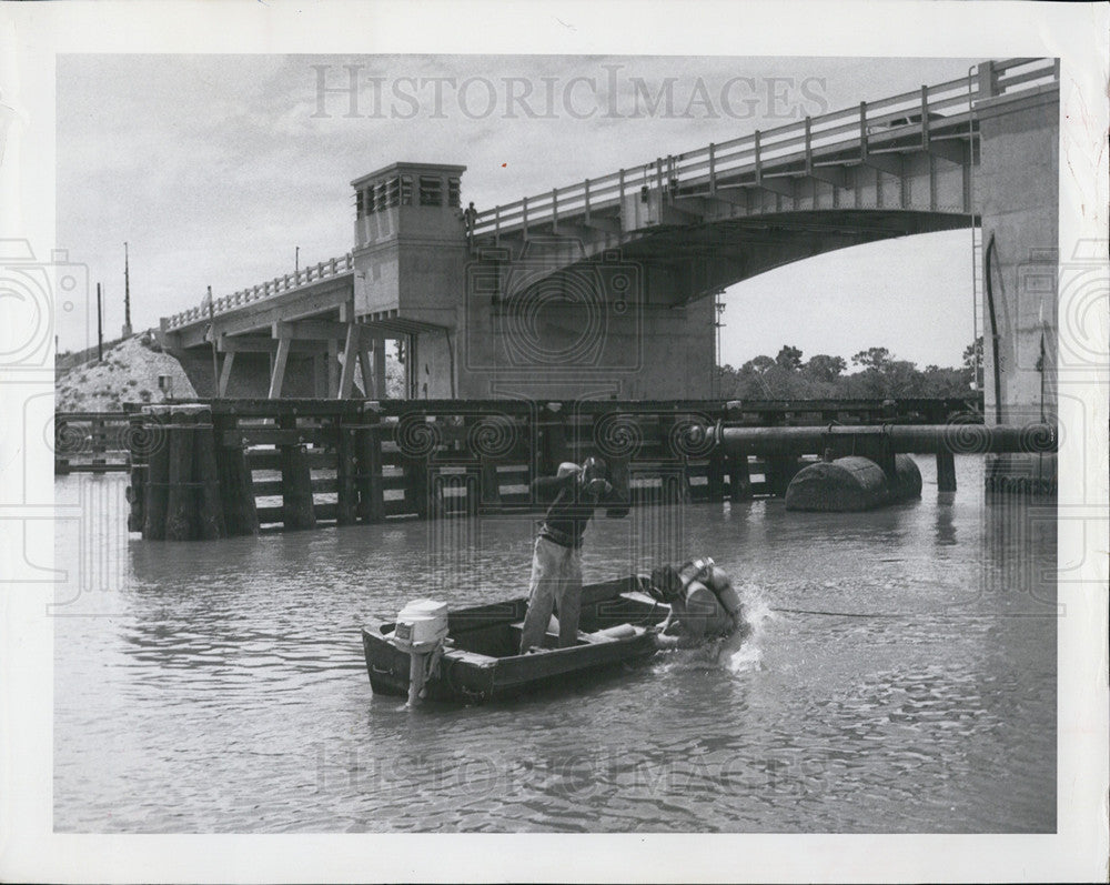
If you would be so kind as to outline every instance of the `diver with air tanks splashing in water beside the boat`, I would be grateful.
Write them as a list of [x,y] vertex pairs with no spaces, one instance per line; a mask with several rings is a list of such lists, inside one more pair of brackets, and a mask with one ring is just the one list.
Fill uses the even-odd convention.
[[743,638],[749,632],[731,579],[707,556],[677,569],[653,570],[650,590],[670,606],[667,620],[654,633],[657,648],[697,648],[729,636]]

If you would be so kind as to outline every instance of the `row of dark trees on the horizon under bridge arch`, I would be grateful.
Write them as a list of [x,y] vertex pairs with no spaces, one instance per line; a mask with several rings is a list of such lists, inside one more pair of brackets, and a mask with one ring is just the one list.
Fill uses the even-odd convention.
[[958,368],[918,369],[909,360],[896,359],[887,348],[859,351],[851,364],[857,371],[847,374],[842,356],[818,353],[804,361],[798,348],[784,344],[774,358],[759,355],[739,369],[718,366],[717,391],[726,400],[967,396],[982,389],[982,336],[963,350]]

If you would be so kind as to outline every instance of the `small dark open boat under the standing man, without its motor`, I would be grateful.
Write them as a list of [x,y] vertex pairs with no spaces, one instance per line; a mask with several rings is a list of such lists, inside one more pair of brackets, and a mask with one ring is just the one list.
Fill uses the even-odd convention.
[[[447,613],[447,637],[431,667],[422,696],[430,701],[481,703],[564,684],[655,654],[649,626],[670,609],[646,593],[647,579],[630,575],[582,589],[578,641],[558,647],[548,631],[544,648],[522,655],[526,599],[475,605]],[[363,627],[366,672],[374,694],[406,695],[410,654],[394,635],[396,621]]]

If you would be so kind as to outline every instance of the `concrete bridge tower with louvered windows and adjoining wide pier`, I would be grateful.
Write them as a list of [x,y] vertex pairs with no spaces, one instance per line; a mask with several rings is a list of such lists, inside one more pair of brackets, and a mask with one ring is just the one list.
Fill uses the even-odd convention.
[[706,395],[713,303],[688,274],[587,253],[581,224],[478,247],[464,171],[398,162],[352,182],[354,318],[375,354],[403,342],[407,399]]

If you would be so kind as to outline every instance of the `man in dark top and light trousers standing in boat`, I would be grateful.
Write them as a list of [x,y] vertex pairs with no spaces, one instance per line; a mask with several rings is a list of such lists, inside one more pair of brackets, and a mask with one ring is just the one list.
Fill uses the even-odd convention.
[[559,647],[575,644],[582,600],[582,537],[594,510],[613,493],[605,462],[599,457],[587,457],[582,466],[564,462],[556,475],[537,477],[532,490],[538,501],[549,502],[549,506],[532,557],[521,654],[543,648],[556,606]]

